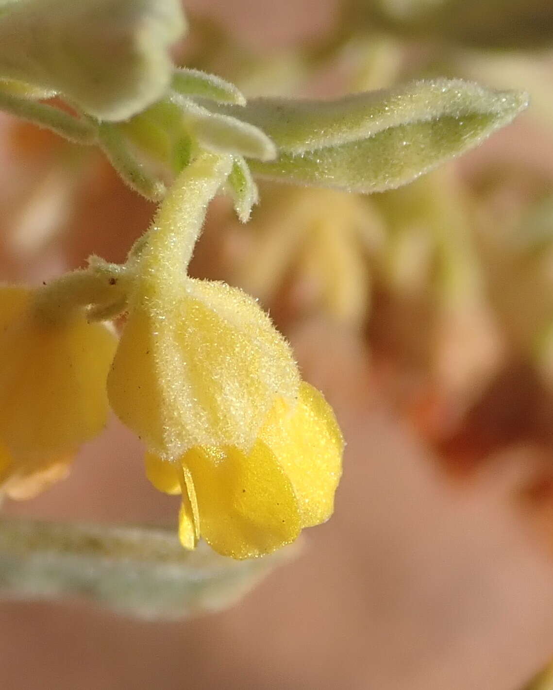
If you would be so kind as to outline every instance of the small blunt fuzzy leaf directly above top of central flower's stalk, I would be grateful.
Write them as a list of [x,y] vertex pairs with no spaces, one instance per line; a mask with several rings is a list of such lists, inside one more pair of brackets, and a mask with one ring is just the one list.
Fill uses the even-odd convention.
[[[212,112],[190,99],[174,94],[172,103],[178,104],[185,126],[202,146],[216,153],[257,158],[268,161],[277,155],[271,139],[261,130],[238,117]],[[236,106],[241,112],[242,106]]]

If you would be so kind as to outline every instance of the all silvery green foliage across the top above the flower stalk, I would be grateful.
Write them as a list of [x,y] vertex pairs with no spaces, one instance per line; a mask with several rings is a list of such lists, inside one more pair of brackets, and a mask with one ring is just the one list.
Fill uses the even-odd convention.
[[[226,188],[245,221],[258,197],[252,173],[363,193],[394,188],[476,146],[527,104],[519,92],[445,79],[336,101],[246,103],[232,83],[172,66],[168,47],[183,30],[179,0],[15,1],[0,13],[0,108],[99,144],[122,179],[155,201],[202,149],[230,155]],[[85,115],[34,100],[49,89]]]

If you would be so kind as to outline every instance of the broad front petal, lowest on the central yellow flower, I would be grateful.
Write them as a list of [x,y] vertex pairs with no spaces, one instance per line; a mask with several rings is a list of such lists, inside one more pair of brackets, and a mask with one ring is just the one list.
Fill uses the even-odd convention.
[[192,449],[182,460],[194,480],[201,535],[214,551],[254,558],[296,539],[294,491],[265,444],[257,442],[248,455]]

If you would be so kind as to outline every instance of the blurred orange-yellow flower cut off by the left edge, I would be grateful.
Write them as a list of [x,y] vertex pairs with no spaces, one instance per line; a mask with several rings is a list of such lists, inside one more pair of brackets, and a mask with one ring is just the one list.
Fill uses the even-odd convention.
[[79,444],[101,431],[117,345],[82,309],[48,319],[36,295],[0,288],[0,486],[14,498],[63,477]]

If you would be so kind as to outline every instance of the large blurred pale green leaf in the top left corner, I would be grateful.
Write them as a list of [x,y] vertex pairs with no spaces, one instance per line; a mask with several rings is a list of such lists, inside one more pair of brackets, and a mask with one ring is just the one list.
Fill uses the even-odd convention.
[[123,120],[168,89],[168,48],[184,30],[179,0],[18,2],[0,14],[0,75]]

